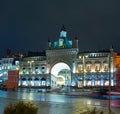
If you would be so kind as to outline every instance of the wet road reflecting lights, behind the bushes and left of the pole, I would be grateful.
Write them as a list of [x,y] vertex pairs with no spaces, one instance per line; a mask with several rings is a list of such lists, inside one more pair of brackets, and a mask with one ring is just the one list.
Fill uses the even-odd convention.
[[[93,99],[80,96],[68,96],[65,94],[39,93],[36,91],[0,91],[0,114],[9,103],[19,100],[32,101],[39,107],[38,114],[79,114],[83,107],[97,107],[106,111],[108,100]],[[112,108],[115,114],[119,114],[119,108]],[[105,113],[106,114],[106,113]]]

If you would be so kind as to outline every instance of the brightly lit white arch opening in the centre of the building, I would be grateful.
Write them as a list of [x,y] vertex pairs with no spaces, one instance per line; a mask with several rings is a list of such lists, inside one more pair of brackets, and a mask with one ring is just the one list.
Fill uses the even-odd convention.
[[51,69],[51,86],[69,86],[71,84],[71,69],[63,62],[55,64]]

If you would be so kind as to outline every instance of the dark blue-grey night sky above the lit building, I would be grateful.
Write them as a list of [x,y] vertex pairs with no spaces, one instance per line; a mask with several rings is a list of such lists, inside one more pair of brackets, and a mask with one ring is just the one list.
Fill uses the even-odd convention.
[[80,51],[120,51],[120,0],[0,0],[0,54],[43,51],[62,25]]

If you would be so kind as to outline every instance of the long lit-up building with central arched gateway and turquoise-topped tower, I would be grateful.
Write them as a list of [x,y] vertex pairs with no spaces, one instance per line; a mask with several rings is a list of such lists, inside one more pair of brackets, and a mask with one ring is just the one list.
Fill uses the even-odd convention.
[[109,51],[80,52],[78,39],[70,40],[63,27],[57,41],[48,40],[44,54],[20,60],[19,86],[115,86],[115,57],[112,48]]

